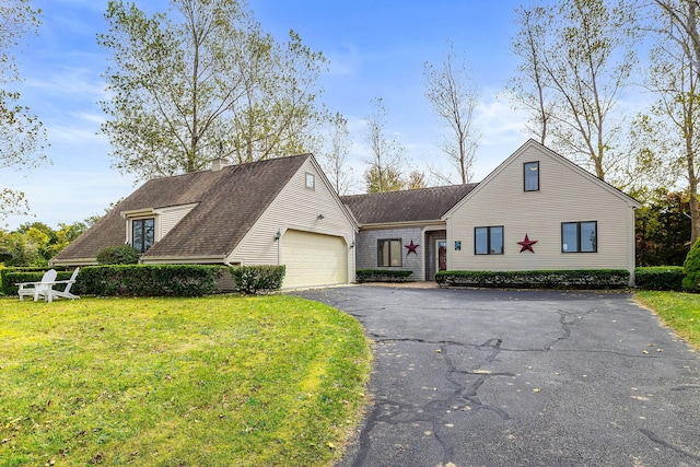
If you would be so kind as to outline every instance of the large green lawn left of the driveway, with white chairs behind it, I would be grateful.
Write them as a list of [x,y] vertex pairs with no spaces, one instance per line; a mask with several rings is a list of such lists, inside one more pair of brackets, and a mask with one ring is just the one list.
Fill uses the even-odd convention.
[[0,466],[331,465],[360,325],[302,299],[0,299]]

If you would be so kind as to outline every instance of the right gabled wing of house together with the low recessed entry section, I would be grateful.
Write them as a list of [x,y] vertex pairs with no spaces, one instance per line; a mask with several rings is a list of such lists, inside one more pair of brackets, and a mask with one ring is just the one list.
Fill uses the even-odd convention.
[[479,184],[341,198],[358,269],[627,269],[641,205],[534,140]]

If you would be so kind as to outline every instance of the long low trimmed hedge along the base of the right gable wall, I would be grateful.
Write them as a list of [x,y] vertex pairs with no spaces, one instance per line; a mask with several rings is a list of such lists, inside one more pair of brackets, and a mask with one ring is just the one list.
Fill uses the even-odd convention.
[[623,289],[629,285],[626,269],[551,271],[439,271],[440,287],[518,289]]

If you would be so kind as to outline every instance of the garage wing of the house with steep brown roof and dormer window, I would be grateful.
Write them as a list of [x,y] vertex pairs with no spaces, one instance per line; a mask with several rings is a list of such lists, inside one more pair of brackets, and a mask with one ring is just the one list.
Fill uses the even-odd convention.
[[313,155],[147,182],[51,260],[131,244],[155,264],[287,265],[285,288],[354,280],[357,223]]

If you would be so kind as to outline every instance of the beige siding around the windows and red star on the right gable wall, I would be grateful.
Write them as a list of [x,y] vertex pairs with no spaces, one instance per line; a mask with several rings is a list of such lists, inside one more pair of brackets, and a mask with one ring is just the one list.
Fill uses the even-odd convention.
[[[539,190],[524,191],[523,163],[539,161]],[[448,269],[632,269],[633,201],[536,145],[497,170],[447,220]],[[562,222],[597,221],[597,253],[562,253]],[[504,230],[503,255],[475,255],[475,227]],[[535,253],[521,253],[525,235]],[[454,242],[462,249],[454,250]]]

